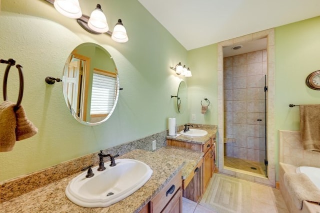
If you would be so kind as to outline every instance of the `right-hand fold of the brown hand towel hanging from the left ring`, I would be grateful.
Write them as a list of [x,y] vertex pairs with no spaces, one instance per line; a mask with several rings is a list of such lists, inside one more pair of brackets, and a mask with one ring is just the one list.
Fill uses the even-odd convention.
[[15,111],[15,117],[15,138],[17,141],[30,138],[38,132],[38,129],[27,119],[25,111],[21,105]]

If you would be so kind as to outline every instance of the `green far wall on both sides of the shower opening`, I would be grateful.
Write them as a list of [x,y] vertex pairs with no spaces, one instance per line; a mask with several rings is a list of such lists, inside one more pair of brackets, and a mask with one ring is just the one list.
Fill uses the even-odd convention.
[[[306,76],[320,69],[320,16],[275,28],[275,167],[278,176],[278,130],[299,130],[299,108],[292,104],[319,104],[320,91],[309,89]],[[194,77],[188,79],[189,121],[217,124],[216,45],[188,51],[188,63]],[[193,67],[194,66],[194,67]],[[213,103],[210,116],[200,114],[200,99]]]

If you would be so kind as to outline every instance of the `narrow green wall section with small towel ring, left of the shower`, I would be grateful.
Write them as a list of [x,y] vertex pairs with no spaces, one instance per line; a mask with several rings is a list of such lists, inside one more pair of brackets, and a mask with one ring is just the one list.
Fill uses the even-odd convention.
[[[217,45],[189,50],[187,56],[192,72],[192,77],[187,79],[189,122],[217,125]],[[203,105],[207,104],[203,98],[210,101],[205,114],[201,114],[201,100]]]

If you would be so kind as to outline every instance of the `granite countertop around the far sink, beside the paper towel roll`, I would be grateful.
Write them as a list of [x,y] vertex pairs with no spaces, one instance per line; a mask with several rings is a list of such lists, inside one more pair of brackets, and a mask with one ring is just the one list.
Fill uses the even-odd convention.
[[184,136],[181,134],[177,134],[177,136],[166,136],[167,139],[176,140],[176,141],[184,141],[188,143],[195,143],[195,144],[205,144],[210,138],[216,134],[217,128],[214,126],[213,128],[208,128],[205,125],[194,125],[190,129],[203,129],[208,132],[205,136],[202,137],[190,137]]

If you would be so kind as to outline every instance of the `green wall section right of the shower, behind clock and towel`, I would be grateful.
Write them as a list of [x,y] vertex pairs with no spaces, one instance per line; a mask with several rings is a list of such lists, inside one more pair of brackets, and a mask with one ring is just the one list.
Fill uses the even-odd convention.
[[320,91],[309,89],[305,85],[307,75],[320,69],[319,26],[320,16],[275,28],[276,163],[278,130],[299,131],[299,108],[290,108],[288,105],[320,103]]

